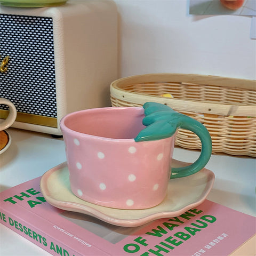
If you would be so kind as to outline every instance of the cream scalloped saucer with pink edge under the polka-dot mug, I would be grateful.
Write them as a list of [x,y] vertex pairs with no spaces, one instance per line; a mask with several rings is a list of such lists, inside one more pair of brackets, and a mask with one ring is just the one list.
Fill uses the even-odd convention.
[[[174,159],[172,161],[173,167],[187,165]],[[66,162],[47,171],[42,176],[40,186],[46,201],[59,209],[91,215],[117,226],[136,227],[156,219],[176,217],[203,203],[213,183],[214,174],[207,169],[185,178],[172,179],[164,201],[143,210],[113,209],[76,197],[70,189]]]

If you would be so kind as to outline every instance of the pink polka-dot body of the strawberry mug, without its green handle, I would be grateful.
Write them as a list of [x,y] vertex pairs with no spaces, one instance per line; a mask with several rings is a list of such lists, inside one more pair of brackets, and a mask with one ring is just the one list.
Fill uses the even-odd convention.
[[143,108],[112,107],[62,118],[70,186],[77,197],[118,209],[145,209],[163,201],[174,136],[135,142],[143,117]]

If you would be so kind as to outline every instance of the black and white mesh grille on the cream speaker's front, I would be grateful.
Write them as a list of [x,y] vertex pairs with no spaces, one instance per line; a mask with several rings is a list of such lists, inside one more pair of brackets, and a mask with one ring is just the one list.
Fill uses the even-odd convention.
[[0,55],[10,56],[0,97],[21,113],[57,117],[52,18],[0,14]]

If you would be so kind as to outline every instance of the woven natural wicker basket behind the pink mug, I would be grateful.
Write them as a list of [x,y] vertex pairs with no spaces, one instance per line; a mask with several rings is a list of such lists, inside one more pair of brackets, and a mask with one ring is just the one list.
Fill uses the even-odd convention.
[[[213,153],[256,157],[256,83],[245,79],[185,74],[147,74],[110,85],[112,106],[154,101],[201,122],[209,130]],[[162,97],[171,93],[172,98]],[[194,133],[179,129],[175,144],[200,149]]]

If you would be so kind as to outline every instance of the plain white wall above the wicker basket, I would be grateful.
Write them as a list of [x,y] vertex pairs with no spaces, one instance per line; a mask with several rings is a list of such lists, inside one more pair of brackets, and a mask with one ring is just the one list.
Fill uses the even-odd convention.
[[166,72],[256,78],[251,17],[189,15],[187,0],[115,2],[119,77]]

